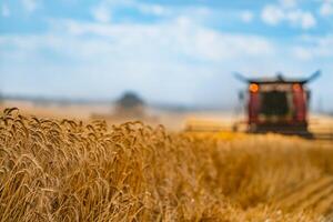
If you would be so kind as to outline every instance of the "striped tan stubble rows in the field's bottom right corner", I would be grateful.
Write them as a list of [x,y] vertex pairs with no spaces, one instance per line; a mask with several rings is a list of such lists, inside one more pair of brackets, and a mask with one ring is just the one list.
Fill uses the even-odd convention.
[[274,205],[284,211],[313,211],[333,221],[333,176],[291,188],[274,201]]

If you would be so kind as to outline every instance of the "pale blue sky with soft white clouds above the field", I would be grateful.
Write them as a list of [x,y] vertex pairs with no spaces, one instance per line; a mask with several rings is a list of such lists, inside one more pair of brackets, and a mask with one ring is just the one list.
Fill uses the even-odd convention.
[[333,110],[333,0],[0,0],[8,94],[233,107],[232,77],[323,77]]

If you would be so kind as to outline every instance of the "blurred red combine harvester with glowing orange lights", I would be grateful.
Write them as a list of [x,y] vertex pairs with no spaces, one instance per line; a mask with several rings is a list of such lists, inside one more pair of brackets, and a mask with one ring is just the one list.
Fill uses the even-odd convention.
[[307,130],[310,90],[306,83],[321,74],[316,71],[307,79],[272,79],[235,77],[249,85],[248,131],[253,133],[278,132],[312,137]]

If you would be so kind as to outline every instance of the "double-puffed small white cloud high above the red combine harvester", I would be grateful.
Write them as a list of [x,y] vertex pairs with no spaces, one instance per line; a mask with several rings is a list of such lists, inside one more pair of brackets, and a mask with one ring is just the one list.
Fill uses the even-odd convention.
[[309,11],[297,8],[285,9],[281,6],[269,4],[262,10],[261,18],[263,22],[270,26],[278,26],[281,22],[287,22],[302,29],[311,29],[316,26],[314,16]]

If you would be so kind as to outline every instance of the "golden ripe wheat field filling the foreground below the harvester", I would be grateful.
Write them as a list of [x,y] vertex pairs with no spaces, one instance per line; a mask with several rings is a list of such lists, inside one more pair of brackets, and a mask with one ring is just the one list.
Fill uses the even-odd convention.
[[280,135],[0,119],[0,221],[329,221],[333,150]]

